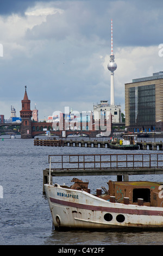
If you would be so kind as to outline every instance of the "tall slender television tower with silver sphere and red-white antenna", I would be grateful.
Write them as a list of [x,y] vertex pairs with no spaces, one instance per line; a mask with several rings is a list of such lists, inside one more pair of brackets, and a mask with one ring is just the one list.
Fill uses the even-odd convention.
[[108,69],[111,71],[111,83],[110,83],[110,105],[115,105],[114,103],[114,71],[117,69],[117,64],[114,61],[114,54],[112,51],[112,19],[111,19],[111,54],[110,62],[108,64]]

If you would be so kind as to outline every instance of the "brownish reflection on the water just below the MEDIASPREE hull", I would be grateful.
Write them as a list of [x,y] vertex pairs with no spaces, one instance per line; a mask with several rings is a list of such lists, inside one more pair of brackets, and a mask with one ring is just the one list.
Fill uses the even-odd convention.
[[45,245],[162,245],[161,231],[53,231]]

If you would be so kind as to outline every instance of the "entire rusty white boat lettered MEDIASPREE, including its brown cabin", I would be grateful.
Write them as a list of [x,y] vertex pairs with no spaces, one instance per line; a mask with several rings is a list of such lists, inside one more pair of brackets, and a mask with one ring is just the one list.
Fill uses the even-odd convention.
[[72,181],[45,184],[55,230],[163,228],[163,183],[109,180],[91,194],[89,182]]

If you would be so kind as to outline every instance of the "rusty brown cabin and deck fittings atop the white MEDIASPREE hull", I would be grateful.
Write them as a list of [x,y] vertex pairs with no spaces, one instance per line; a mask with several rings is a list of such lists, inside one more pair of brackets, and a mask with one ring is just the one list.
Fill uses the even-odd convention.
[[[73,178],[73,190],[89,192],[89,182],[83,182]],[[115,203],[139,204],[146,206],[163,207],[163,183],[151,181],[111,181],[107,182],[109,189],[102,187],[97,189],[97,196],[110,202],[114,198]],[[103,192],[102,192],[103,191]],[[140,200],[141,199],[141,200]]]

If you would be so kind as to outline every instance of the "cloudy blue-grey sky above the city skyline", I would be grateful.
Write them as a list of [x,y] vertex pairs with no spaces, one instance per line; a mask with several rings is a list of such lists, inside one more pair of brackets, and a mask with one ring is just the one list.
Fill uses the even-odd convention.
[[24,86],[40,120],[110,102],[111,19],[124,111],[124,84],[163,71],[162,13],[160,0],[1,0],[0,114],[9,118],[12,105],[20,116]]

